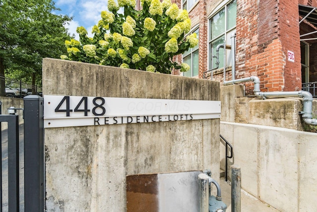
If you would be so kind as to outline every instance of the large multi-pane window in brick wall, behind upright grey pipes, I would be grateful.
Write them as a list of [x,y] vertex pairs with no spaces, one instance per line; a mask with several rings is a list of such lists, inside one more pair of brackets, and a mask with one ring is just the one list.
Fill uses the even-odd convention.
[[[237,19],[237,0],[230,1],[224,7],[222,7],[217,13],[212,15],[209,19],[210,22],[210,36],[209,36],[209,56],[210,63],[209,68],[215,69],[216,67],[216,47],[219,44],[231,45],[231,37],[236,31],[236,19]],[[219,66],[223,68],[223,48],[219,49]],[[230,65],[231,56],[226,53],[226,65]]]

